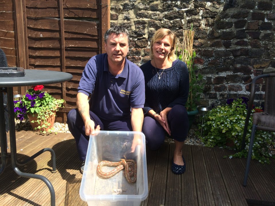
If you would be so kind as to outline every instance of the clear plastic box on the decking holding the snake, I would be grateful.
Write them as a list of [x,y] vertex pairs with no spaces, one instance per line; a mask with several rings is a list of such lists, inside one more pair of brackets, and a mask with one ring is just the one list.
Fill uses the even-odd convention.
[[[134,152],[131,147],[138,142]],[[128,183],[123,171],[109,179],[97,175],[97,165],[102,160],[120,161],[133,159],[137,162],[137,180]],[[102,167],[108,172],[114,167]],[[120,192],[121,194],[117,194]],[[84,172],[80,185],[80,198],[93,206],[139,206],[148,196],[145,136],[142,132],[98,131],[90,136]]]

